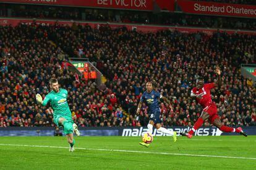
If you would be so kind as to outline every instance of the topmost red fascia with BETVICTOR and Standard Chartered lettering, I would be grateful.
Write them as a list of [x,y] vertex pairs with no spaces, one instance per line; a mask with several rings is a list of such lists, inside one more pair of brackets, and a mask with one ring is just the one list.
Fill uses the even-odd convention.
[[135,11],[169,11],[229,17],[256,17],[256,6],[189,0],[0,0],[0,2],[101,9],[126,9]]

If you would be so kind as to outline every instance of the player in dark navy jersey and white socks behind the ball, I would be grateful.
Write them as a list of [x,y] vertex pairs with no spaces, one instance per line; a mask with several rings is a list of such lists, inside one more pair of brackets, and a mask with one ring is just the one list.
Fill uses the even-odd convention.
[[[138,105],[137,114],[140,113],[140,108],[142,107],[142,103],[145,102],[148,106],[148,115],[150,116],[150,121],[148,123],[148,133],[152,134],[153,132],[153,125],[155,125],[158,132],[163,132],[164,134],[173,135],[173,140],[176,142],[176,132],[171,132],[170,130],[165,129],[164,127],[161,127],[160,124],[160,107],[158,104],[158,99],[161,98],[166,103],[169,104],[169,107],[172,109],[170,101],[162,96],[158,91],[153,90],[153,85],[151,82],[147,82],[147,90],[143,93],[143,95],[140,98],[140,103]],[[143,145],[145,147],[148,147],[149,144],[140,142],[140,145]]]

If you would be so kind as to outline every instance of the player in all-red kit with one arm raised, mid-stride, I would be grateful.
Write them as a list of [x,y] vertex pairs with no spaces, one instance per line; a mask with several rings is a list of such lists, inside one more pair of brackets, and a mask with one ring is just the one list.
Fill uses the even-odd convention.
[[241,135],[247,137],[247,134],[242,131],[241,127],[232,128],[226,125],[222,125],[220,121],[220,117],[217,113],[217,107],[215,102],[211,100],[211,88],[215,88],[217,85],[220,88],[221,86],[221,71],[219,67],[216,67],[216,74],[218,74],[217,83],[206,83],[204,84],[203,79],[197,79],[197,85],[191,90],[192,97],[197,98],[197,102],[203,107],[203,111],[201,116],[195,122],[193,128],[188,133],[181,133],[182,136],[187,136],[188,138],[192,138],[195,130],[197,130],[206,119],[209,119],[211,124],[218,127],[223,132],[237,132]]

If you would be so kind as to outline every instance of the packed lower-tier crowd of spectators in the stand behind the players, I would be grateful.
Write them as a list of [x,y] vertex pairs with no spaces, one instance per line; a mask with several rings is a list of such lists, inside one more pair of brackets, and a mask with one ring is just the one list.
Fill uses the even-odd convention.
[[[0,127],[53,126],[53,110],[36,104],[35,94],[49,92],[50,77],[69,91],[69,106],[80,126],[147,125],[147,106],[135,115],[147,81],[171,100],[160,103],[163,125],[192,125],[202,108],[190,90],[195,79],[214,82],[221,66],[222,85],[212,90],[225,125],[256,125],[252,80],[241,77],[239,64],[255,63],[253,35],[161,31],[141,33],[125,27],[99,30],[88,25],[0,27]],[[108,78],[105,86],[76,80],[67,55],[88,57]],[[123,110],[124,109],[124,110]],[[127,112],[127,113],[126,113]],[[210,125],[205,122],[205,125]]]

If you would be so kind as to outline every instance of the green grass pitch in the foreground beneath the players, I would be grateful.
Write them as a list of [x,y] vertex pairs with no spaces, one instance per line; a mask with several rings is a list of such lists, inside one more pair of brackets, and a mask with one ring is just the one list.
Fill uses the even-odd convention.
[[256,169],[256,136],[75,140],[70,153],[66,137],[0,137],[0,169]]

